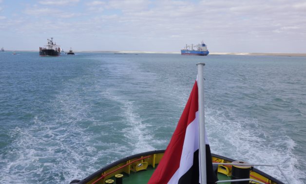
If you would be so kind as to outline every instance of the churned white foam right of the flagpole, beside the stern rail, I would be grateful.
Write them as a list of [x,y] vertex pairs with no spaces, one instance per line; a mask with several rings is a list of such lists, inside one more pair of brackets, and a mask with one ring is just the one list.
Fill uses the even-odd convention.
[[[269,134],[261,131],[263,126],[255,119],[235,116],[228,110],[207,108],[206,122],[212,152],[252,164],[279,165],[289,181],[303,184],[299,179],[303,173],[295,169],[299,163],[292,153],[296,144],[289,137],[279,133],[277,139],[270,140]],[[258,168],[286,183],[277,167]]]

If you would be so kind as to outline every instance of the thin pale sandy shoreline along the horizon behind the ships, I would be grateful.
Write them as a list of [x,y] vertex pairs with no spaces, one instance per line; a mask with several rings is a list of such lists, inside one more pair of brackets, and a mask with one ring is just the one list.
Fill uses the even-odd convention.
[[[38,51],[11,51],[5,52],[38,52]],[[150,52],[150,51],[76,51],[76,53],[114,53],[114,54],[181,54],[180,52]],[[270,56],[306,56],[306,53],[219,53],[209,55],[270,55]]]

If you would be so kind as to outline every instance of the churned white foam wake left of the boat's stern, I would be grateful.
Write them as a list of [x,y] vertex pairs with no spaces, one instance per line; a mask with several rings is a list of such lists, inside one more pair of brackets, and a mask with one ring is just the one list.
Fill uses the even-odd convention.
[[[122,151],[113,149],[119,147],[117,144],[91,143],[96,134],[79,123],[94,121],[87,114],[91,107],[78,98],[77,86],[71,85],[67,84],[68,90],[75,92],[63,91],[51,104],[46,104],[50,114],[38,114],[31,126],[17,127],[10,133],[15,141],[1,161],[1,183],[69,183],[103,166],[94,167],[101,163],[103,155]],[[97,151],[96,147],[103,150]]]

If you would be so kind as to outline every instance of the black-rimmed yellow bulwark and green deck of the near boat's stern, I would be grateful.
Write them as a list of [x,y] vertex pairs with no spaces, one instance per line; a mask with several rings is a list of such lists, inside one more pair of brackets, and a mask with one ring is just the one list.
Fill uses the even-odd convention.
[[[85,179],[73,180],[70,184],[105,184],[108,179],[116,180],[115,175],[119,173],[123,174],[123,184],[147,184],[153,171],[164,156],[164,152],[165,150],[155,150],[123,158],[101,168]],[[211,153],[211,160],[213,163],[224,163],[224,165],[214,167],[218,179],[220,181],[230,180],[232,175],[232,166],[227,164],[230,164],[235,160],[213,153]],[[245,171],[246,170],[244,170],[244,172]],[[249,170],[249,178],[267,184],[284,184],[257,168]],[[249,184],[249,181],[247,183]]]

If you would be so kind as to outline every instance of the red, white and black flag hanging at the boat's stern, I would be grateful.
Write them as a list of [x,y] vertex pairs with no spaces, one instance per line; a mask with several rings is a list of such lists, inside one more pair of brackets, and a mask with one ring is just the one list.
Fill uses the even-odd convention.
[[[199,111],[195,81],[171,141],[148,184],[199,184]],[[205,133],[206,135],[206,133]],[[210,146],[206,143],[207,184],[218,181],[212,169]]]

